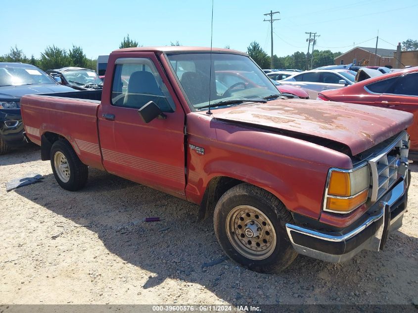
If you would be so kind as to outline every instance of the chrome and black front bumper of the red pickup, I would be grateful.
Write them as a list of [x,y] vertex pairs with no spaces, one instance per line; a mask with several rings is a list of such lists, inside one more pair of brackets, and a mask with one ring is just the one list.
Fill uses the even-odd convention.
[[382,250],[387,234],[402,226],[409,179],[408,172],[405,179],[371,206],[362,221],[339,232],[286,224],[293,248],[300,254],[332,263],[347,261],[362,250]]

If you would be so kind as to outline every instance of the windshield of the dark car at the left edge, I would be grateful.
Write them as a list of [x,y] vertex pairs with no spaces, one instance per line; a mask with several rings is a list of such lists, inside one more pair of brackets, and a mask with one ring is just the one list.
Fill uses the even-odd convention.
[[1,86],[56,84],[49,76],[35,66],[0,67]]

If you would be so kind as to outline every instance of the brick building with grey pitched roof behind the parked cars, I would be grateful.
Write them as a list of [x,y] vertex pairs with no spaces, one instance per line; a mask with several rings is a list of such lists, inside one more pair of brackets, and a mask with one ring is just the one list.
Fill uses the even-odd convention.
[[394,67],[393,54],[396,50],[377,48],[377,54],[374,51],[375,48],[355,47],[334,58],[335,65],[356,63],[364,66]]

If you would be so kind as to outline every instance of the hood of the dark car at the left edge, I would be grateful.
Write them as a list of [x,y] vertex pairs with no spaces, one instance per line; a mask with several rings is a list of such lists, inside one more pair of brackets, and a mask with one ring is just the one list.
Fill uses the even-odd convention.
[[21,86],[3,86],[0,87],[0,100],[18,100],[25,94],[39,94],[39,93],[52,93],[52,92],[68,92],[74,91],[74,89],[55,85],[55,84],[42,84],[42,85],[21,85]]

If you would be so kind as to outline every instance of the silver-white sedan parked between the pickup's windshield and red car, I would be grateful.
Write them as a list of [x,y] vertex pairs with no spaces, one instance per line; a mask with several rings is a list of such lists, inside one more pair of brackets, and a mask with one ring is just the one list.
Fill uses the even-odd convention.
[[313,70],[287,77],[280,81],[280,84],[289,84],[320,92],[353,85],[355,79],[356,76],[348,70]]

